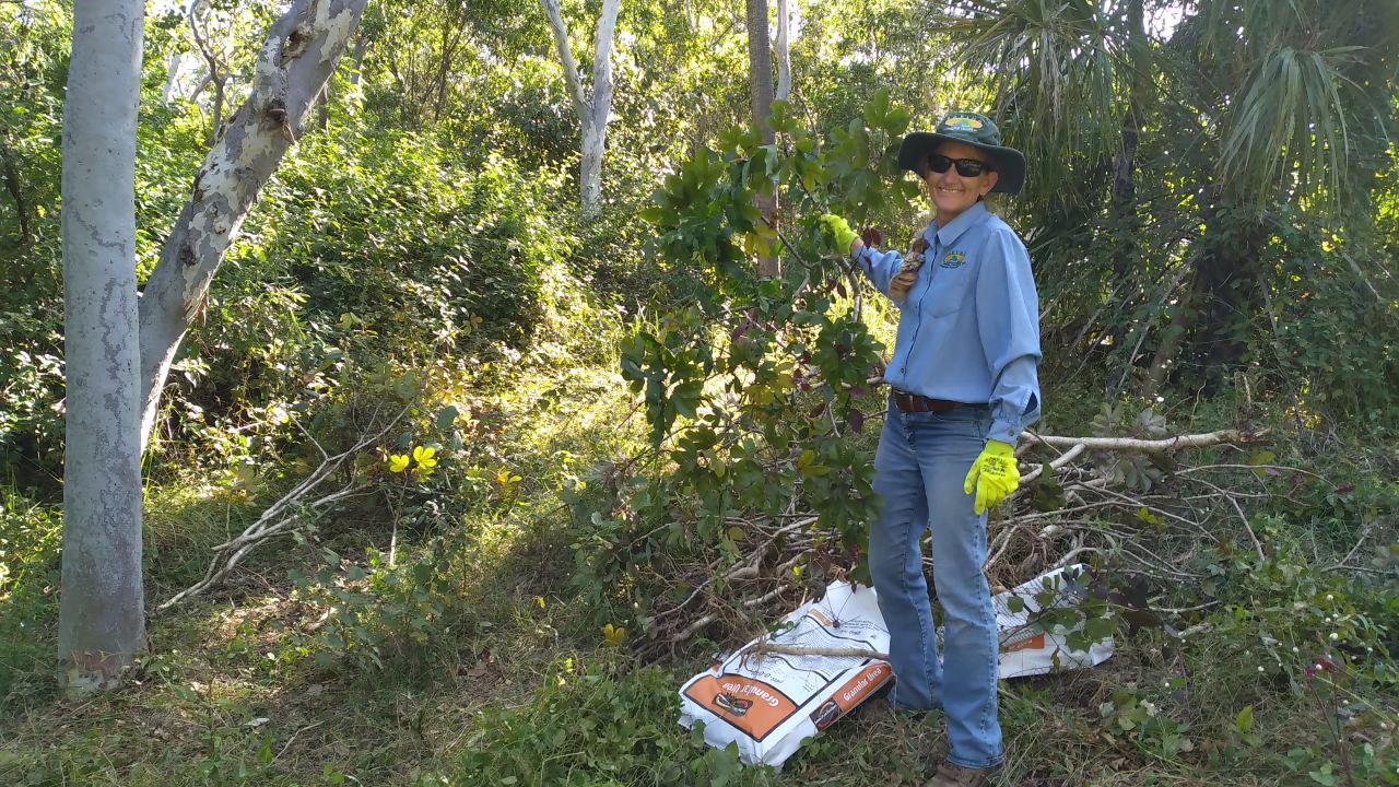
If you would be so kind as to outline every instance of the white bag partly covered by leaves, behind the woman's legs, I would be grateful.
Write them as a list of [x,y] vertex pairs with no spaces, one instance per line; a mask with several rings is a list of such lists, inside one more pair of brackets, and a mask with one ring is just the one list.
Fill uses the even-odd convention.
[[[1069,648],[1067,636],[1083,629],[1081,620],[1070,627],[1056,623],[1049,630],[1035,625],[1042,609],[1074,606],[1087,592],[1088,574],[1081,564],[1055,569],[997,592],[992,602],[996,605],[996,627],[1000,630],[1000,676],[1025,678],[1093,667],[1112,655],[1111,636],[1090,644],[1088,650]],[[1013,602],[1011,598],[1018,601]],[[1011,606],[1018,612],[1011,612]]]

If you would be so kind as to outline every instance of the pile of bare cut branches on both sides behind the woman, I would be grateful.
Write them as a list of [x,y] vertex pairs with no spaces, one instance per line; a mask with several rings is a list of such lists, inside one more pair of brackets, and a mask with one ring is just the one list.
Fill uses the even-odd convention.
[[[1025,433],[1021,486],[989,525],[985,570],[993,590],[1094,553],[1167,587],[1188,584],[1205,578],[1189,567],[1199,545],[1234,535],[1262,556],[1247,501],[1270,494],[1262,480],[1266,475],[1312,473],[1244,462],[1188,465],[1178,455],[1191,448],[1238,448],[1262,438],[1260,433],[1238,430],[1163,440]],[[1041,462],[1028,458],[1046,452],[1052,457]],[[1153,480],[1139,480],[1136,489],[1114,483],[1107,468],[1123,458],[1157,468]],[[839,549],[837,534],[814,529],[816,521],[814,514],[793,510],[775,518],[734,517],[727,524],[743,529],[743,543],[751,545],[737,562],[655,564],[649,581],[693,590],[653,608],[644,620],[651,633],[644,648],[673,650],[719,623],[727,632],[753,632],[775,612],[771,602],[783,599],[782,606],[790,608],[811,590],[807,580],[824,584],[844,576],[851,555]],[[926,552],[925,562],[930,566]]]

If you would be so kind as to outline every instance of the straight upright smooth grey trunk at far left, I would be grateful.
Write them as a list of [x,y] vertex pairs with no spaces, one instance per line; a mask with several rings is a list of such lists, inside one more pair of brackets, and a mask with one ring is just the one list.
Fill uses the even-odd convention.
[[143,0],[77,0],[63,115],[67,443],[59,664],[70,695],[145,648],[136,318]]

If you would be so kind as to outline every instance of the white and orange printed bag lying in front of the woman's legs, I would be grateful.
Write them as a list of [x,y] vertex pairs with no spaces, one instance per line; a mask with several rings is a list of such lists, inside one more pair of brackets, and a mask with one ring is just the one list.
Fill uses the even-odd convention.
[[[834,583],[771,636],[753,640],[680,688],[680,724],[704,723],[711,746],[737,744],[739,759],[781,767],[802,741],[848,714],[893,678],[888,630],[874,590]],[[753,653],[757,646],[842,655]],[[870,655],[862,655],[869,653]]]

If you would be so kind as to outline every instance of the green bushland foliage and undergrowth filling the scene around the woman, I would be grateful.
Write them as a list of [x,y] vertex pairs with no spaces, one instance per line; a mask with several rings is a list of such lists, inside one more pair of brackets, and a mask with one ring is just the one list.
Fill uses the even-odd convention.
[[[1270,440],[1189,455],[1191,478],[1093,457],[1199,531],[1147,506],[1066,511],[1060,479],[1038,482],[1018,513],[1062,511],[1079,541],[1035,536],[995,578],[1087,550],[1101,592],[1065,615],[1119,650],[1006,685],[1007,783],[1399,784],[1395,4],[797,6],[793,94],[762,146],[743,7],[623,3],[585,223],[537,3],[371,4],[166,382],[151,654],[129,692],[74,709],[49,675],[71,17],[0,3],[0,783],[921,783],[937,714],[862,713],[779,777],[674,725],[673,692],[859,576],[891,316],[814,217],[905,245],[926,218],[900,136],[967,106],[1030,153],[1030,188],[993,207],[1035,263],[1041,429]],[[141,280],[274,14],[200,8],[218,112],[189,21],[147,20]],[[596,11],[564,11],[589,73]],[[760,280],[772,251],[782,274]],[[154,613],[322,450],[389,422],[322,487],[351,497],[302,500],[207,598]]]

